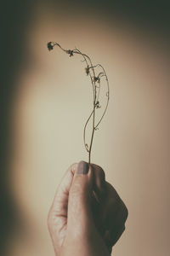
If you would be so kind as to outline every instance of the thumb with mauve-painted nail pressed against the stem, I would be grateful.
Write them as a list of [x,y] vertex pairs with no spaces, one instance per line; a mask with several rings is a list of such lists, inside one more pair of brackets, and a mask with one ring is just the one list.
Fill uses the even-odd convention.
[[[83,229],[92,221],[93,168],[80,161],[74,173],[68,201],[67,228]],[[80,230],[82,232],[82,230]]]

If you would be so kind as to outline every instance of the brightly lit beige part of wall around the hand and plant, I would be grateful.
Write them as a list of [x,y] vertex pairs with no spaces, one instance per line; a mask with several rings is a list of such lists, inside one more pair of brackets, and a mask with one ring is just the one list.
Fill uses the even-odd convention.
[[[111,101],[96,131],[92,162],[102,166],[129,210],[116,256],[167,256],[169,236],[169,85],[159,38],[118,22],[66,19],[36,9],[27,32],[26,62],[20,67],[14,106],[11,183],[28,231],[13,254],[54,255],[46,218],[54,191],[68,166],[88,160],[83,125],[92,91],[79,57],[48,41],[77,48],[105,67]],[[119,26],[118,26],[119,24]],[[62,25],[62,26],[61,26]],[[21,241],[21,242],[20,242]],[[12,255],[12,254],[11,254]]]

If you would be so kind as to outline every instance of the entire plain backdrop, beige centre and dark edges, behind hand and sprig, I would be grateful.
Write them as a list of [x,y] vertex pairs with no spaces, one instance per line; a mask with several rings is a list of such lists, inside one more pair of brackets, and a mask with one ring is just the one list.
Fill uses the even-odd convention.
[[49,52],[48,41],[77,46],[110,81],[92,162],[129,211],[112,255],[169,255],[166,10],[151,1],[39,1],[17,2],[4,15],[1,237],[8,255],[54,255],[46,222],[55,189],[72,163],[88,161],[82,131],[91,84],[81,58]]

